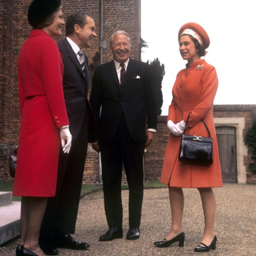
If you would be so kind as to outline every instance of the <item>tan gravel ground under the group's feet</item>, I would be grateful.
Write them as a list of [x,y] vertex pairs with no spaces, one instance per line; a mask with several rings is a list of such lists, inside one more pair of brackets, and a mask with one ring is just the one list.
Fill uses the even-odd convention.
[[[217,249],[209,256],[256,256],[256,185],[224,184],[215,188],[217,215],[215,231]],[[199,255],[193,251],[203,233],[203,210],[199,192],[184,189],[185,207],[183,230],[185,245],[178,243],[167,247],[153,247],[153,242],[162,240],[171,226],[171,210],[167,188],[144,190],[142,208],[141,237],[128,241],[125,238],[110,242],[99,242],[100,235],[107,231],[104,214],[103,192],[90,194],[80,201],[77,228],[74,235],[79,241],[91,245],[87,251],[59,249],[59,255],[66,256],[191,256]],[[128,190],[123,197],[123,231],[128,231]],[[0,247],[1,256],[15,255],[18,239],[13,239]]]

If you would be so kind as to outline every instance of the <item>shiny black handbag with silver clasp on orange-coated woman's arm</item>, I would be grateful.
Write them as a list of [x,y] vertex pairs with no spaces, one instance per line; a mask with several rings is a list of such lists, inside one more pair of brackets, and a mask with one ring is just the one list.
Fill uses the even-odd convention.
[[[190,114],[187,117],[185,130]],[[187,135],[185,130],[181,135],[181,146],[178,155],[179,161],[190,162],[197,165],[211,165],[213,163],[213,138],[210,137],[210,131],[206,123],[201,120],[207,130],[209,137],[198,135]]]

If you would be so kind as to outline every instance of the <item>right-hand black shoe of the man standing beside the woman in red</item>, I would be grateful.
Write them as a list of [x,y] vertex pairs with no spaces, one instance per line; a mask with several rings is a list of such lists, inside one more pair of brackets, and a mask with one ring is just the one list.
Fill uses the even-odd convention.
[[55,240],[57,248],[67,248],[72,250],[87,250],[90,245],[85,242],[78,242],[69,234],[58,235]]

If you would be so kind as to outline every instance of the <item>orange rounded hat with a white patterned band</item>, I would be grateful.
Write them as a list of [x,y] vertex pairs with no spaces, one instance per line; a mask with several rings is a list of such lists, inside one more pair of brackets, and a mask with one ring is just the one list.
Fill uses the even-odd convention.
[[206,31],[201,27],[199,24],[194,22],[189,22],[183,25],[179,32],[178,32],[178,40],[180,40],[181,35],[183,34],[189,34],[197,41],[199,41],[201,46],[204,46],[204,48],[208,48],[210,45],[210,39],[208,37],[208,34]]

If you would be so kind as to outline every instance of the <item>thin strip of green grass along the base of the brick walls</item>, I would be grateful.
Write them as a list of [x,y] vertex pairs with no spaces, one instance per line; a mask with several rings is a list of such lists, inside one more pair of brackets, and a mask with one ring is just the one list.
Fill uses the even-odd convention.
[[[152,181],[146,181],[144,183],[144,188],[161,188],[161,187],[167,187],[166,185],[160,183],[159,181],[152,180]],[[12,191],[13,189],[13,182],[0,182],[0,191]],[[96,192],[98,190],[102,189],[102,185],[87,185],[87,184],[82,184],[82,189],[81,189],[81,198],[84,197],[85,195]],[[128,185],[123,185],[122,186],[123,190],[128,189]],[[21,201],[21,197],[12,197],[13,201]]]

